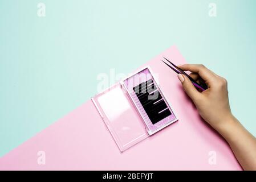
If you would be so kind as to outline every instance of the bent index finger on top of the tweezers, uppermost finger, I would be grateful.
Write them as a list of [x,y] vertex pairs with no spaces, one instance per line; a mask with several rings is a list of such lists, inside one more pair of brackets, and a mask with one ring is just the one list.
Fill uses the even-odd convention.
[[198,75],[205,81],[210,81],[213,77],[215,77],[214,73],[202,64],[184,64],[180,65],[179,68],[183,71],[198,73]]

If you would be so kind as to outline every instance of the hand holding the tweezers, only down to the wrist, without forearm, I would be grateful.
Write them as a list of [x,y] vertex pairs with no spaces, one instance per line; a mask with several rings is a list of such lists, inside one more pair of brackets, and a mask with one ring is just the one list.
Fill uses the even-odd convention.
[[178,75],[179,80],[188,96],[197,107],[198,113],[214,129],[225,125],[232,117],[227,92],[227,81],[216,75],[204,65],[184,64],[179,66],[183,71],[190,71],[191,76],[197,82],[205,81],[208,86],[200,93],[185,75]]

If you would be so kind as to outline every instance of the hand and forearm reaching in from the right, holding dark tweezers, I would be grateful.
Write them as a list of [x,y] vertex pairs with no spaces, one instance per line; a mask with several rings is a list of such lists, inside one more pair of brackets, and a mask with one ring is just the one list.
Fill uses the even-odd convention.
[[208,89],[200,93],[188,77],[178,74],[185,92],[201,117],[226,139],[243,169],[256,170],[256,139],[231,114],[225,78],[203,65],[184,64],[179,68],[192,72],[190,76],[194,80],[205,82]]

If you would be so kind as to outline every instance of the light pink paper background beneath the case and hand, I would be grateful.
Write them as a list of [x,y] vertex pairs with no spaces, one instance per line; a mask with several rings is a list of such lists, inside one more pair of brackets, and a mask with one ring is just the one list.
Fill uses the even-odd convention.
[[[159,74],[161,89],[178,122],[120,153],[90,100],[3,156],[0,169],[241,169],[226,142],[201,120],[176,73],[161,63],[161,56],[174,64],[184,64],[185,60],[176,47],[171,47],[147,63]],[[38,164],[38,151],[45,151],[45,165]],[[216,165],[208,162],[210,151],[216,151]]]

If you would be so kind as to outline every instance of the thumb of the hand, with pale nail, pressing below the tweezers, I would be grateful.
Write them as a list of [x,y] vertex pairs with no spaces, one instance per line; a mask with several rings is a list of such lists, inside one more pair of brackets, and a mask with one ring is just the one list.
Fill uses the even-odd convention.
[[188,96],[193,101],[200,96],[200,92],[197,91],[197,89],[194,87],[194,85],[192,84],[188,77],[182,74],[178,74],[178,80],[180,80],[186,94],[188,94]]

